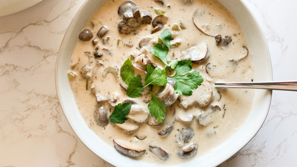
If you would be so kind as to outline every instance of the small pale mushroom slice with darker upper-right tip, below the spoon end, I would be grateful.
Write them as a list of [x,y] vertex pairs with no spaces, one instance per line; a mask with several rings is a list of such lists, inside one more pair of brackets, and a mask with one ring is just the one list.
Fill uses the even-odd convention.
[[218,105],[211,104],[211,106],[206,110],[199,110],[197,112],[196,118],[201,126],[207,126],[212,123],[213,113],[221,111]]

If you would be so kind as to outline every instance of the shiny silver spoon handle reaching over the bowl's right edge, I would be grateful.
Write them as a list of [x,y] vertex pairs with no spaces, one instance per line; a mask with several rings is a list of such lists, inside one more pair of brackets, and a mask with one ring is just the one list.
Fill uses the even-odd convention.
[[270,81],[270,82],[215,82],[216,88],[244,88],[297,91],[296,81]]

